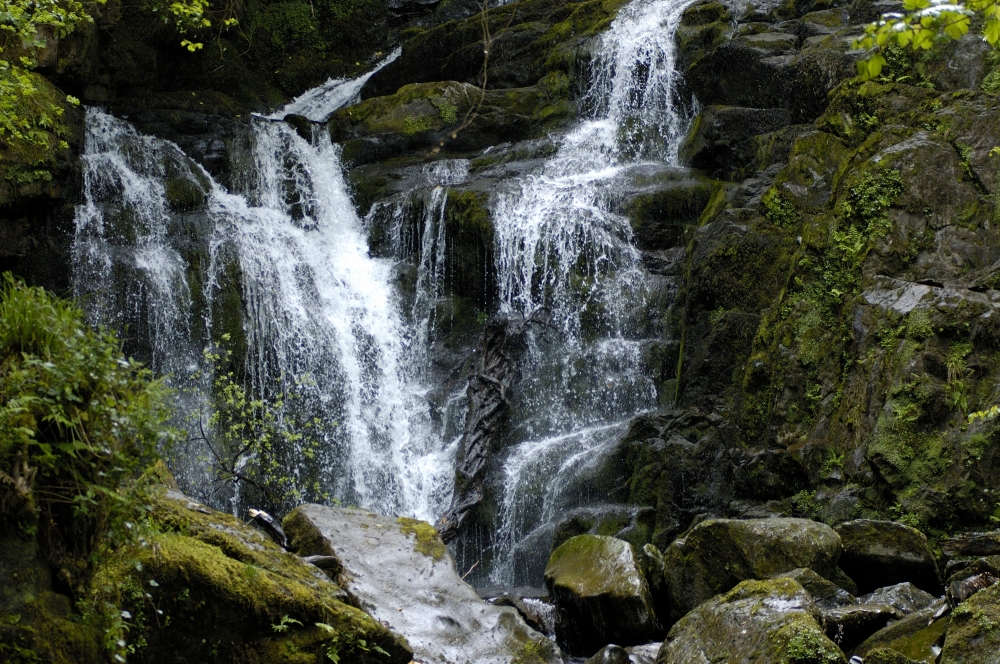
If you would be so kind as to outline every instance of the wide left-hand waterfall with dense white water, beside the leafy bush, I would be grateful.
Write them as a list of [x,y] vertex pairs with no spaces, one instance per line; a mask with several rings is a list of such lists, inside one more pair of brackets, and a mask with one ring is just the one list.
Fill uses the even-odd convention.
[[[363,83],[331,82],[278,115],[327,117]],[[409,353],[420,341],[399,314],[389,261],[368,255],[340,149],[270,119],[251,128],[249,185],[230,193],[172,143],[89,110],[77,294],[95,322],[136,335],[189,411],[206,402],[215,368],[203,349],[228,339],[242,350],[253,391],[321,443],[289,455],[300,487],[433,519],[454,449],[434,430]],[[185,194],[203,202],[185,211]],[[204,464],[189,466],[189,486],[203,485]]]

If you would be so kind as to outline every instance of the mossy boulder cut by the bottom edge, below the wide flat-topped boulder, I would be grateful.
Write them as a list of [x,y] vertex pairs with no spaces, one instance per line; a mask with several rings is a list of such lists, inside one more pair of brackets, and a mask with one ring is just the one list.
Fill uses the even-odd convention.
[[823,634],[809,594],[787,578],[743,581],[684,616],[667,635],[657,664],[679,662],[844,662]]

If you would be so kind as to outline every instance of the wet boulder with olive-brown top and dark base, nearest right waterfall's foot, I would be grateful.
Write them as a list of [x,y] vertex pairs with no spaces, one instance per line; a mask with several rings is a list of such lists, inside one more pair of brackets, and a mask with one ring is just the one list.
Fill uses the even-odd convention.
[[653,599],[628,542],[600,535],[567,540],[552,552],[545,584],[564,613],[560,642],[570,652],[636,645],[653,634]]

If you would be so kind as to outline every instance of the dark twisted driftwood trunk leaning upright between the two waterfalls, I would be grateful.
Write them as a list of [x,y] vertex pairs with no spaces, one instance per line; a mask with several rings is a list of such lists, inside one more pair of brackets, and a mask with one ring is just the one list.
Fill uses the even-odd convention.
[[532,324],[548,324],[539,313],[527,318],[494,318],[483,330],[475,370],[466,388],[469,407],[455,460],[455,491],[451,507],[435,524],[445,542],[459,535],[483,500],[483,478],[494,443],[506,424],[508,394],[518,379],[525,333]]

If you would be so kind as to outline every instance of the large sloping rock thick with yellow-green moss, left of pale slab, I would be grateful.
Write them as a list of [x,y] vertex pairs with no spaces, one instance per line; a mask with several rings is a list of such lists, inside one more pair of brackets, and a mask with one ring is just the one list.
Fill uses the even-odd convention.
[[405,640],[345,603],[326,574],[231,515],[162,489],[158,533],[118,552],[95,579],[122,610],[136,662],[319,664],[412,658]]

